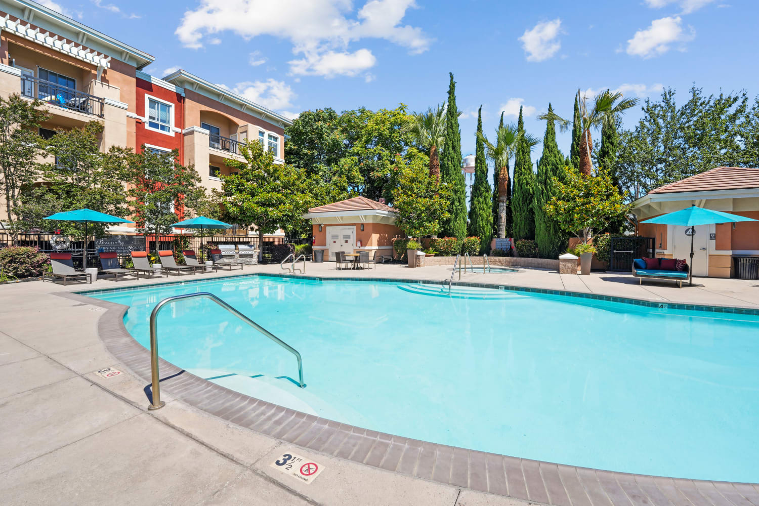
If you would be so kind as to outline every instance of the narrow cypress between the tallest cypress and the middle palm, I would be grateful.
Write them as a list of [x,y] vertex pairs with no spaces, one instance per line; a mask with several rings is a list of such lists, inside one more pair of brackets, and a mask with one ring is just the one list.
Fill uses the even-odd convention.
[[[482,105],[477,112],[477,133],[482,134]],[[487,182],[485,143],[477,136],[474,149],[474,184],[469,202],[469,234],[480,237],[480,252],[490,250],[493,239],[493,190]]]

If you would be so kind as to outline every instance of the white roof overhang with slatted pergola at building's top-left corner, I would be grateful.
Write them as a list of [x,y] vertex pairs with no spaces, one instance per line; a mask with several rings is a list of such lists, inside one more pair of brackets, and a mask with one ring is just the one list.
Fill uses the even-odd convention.
[[[30,0],[5,0],[0,9],[23,20],[16,22],[5,16],[5,19],[0,18],[0,29],[82,61],[109,68],[111,58],[116,58],[139,69],[156,59]],[[30,27],[30,24],[39,28]]]

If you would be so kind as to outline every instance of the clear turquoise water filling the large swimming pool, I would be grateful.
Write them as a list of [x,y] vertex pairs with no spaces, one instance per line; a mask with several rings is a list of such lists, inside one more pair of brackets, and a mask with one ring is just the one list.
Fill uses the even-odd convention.
[[628,473],[759,482],[759,318],[476,288],[253,275],[93,296],[163,358],[238,391],[429,442]]

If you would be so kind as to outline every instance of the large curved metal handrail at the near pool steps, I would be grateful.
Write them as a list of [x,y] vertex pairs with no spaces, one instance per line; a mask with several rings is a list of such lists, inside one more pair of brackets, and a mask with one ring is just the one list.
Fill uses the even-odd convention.
[[165,406],[165,402],[161,401],[161,385],[158,373],[158,313],[163,308],[163,306],[168,303],[174,303],[177,300],[192,299],[195,297],[213,300],[213,302],[219,304],[219,306],[222,306],[225,310],[228,310],[243,322],[255,328],[258,332],[265,335],[267,338],[271,339],[276,344],[279,344],[279,346],[285,348],[285,350],[288,350],[291,354],[293,354],[295,358],[298,359],[298,381],[300,382],[300,385],[298,386],[301,388],[306,388],[306,384],[303,382],[303,360],[301,360],[301,354],[298,353],[298,350],[285,343],[285,341],[282,341],[282,339],[278,338],[276,335],[273,335],[271,332],[266,330],[266,328],[258,325],[243,313],[235,310],[234,307],[230,306],[228,303],[225,303],[223,300],[219,299],[219,297],[216,297],[216,295],[209,294],[206,291],[200,291],[197,294],[184,294],[167,297],[161,302],[157,303],[156,307],[153,308],[153,313],[150,313],[150,376],[153,382],[153,403],[150,404],[147,409],[157,410],[159,407]]

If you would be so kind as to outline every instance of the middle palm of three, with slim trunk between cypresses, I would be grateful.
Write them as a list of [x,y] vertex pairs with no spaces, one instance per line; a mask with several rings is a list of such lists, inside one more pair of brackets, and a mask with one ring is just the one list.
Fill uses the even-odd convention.
[[483,134],[477,137],[485,144],[485,155],[493,160],[493,170],[498,171],[498,237],[506,237],[506,213],[509,210],[509,159],[515,155],[517,146],[524,139],[530,148],[540,143],[537,137],[519,133],[515,123],[496,128],[496,144],[493,145]]

